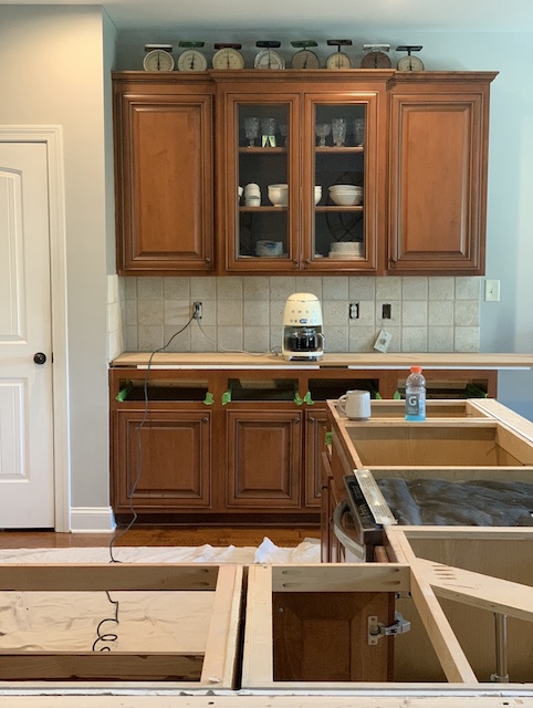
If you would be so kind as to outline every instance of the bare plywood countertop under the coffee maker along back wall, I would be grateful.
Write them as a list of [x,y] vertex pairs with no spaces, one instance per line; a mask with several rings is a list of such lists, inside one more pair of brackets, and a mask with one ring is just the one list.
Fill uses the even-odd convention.
[[[151,357],[151,362],[150,362]],[[422,366],[426,369],[500,369],[533,368],[533,354],[470,354],[470,353],[346,353],[324,354],[317,362],[285,361],[276,354],[244,354],[222,352],[125,352],[112,362],[112,366],[151,368],[406,368]]]

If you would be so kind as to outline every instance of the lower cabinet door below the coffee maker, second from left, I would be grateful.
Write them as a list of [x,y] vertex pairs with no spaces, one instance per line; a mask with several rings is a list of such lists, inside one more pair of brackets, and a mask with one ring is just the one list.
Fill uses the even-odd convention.
[[301,416],[228,412],[228,507],[300,508]]

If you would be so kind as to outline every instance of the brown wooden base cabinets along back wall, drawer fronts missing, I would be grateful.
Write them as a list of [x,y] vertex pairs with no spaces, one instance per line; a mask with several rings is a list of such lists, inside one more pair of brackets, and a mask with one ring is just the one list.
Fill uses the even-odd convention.
[[[326,400],[353,388],[393,398],[401,395],[405,375],[296,367],[154,368],[149,374],[135,366],[112,368],[113,510],[202,525],[317,527],[336,503],[336,490],[327,489],[322,470]],[[440,398],[449,397],[453,382],[453,392],[467,395],[468,385],[494,396],[495,376],[439,371],[429,378]],[[331,499],[326,507],[324,488]]]

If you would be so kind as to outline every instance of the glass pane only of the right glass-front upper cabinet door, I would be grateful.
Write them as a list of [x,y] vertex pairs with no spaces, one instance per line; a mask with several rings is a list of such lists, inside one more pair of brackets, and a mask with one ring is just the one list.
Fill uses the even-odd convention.
[[366,258],[365,114],[365,104],[316,106],[314,259]]

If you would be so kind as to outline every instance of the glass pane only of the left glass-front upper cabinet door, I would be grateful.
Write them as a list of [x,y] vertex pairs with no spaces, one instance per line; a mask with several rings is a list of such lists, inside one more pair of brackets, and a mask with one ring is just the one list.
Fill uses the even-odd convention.
[[237,258],[288,258],[289,107],[239,105],[238,121]]

